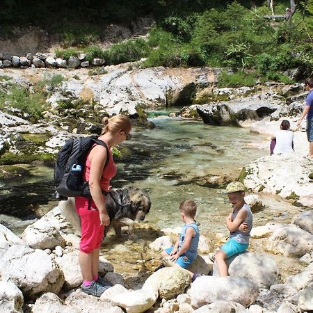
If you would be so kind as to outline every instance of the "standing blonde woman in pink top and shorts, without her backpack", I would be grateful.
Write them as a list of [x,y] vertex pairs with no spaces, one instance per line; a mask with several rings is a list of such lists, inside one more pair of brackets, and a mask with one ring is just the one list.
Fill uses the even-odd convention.
[[[102,123],[105,126],[99,140],[104,141],[109,147],[109,155],[102,145],[93,145],[83,169],[83,179],[89,184],[91,199],[75,198],[76,211],[81,219],[79,243],[79,266],[83,276],[81,290],[97,297],[109,287],[99,277],[98,271],[99,250],[104,236],[104,227],[110,224],[102,191],[109,191],[110,180],[117,171],[111,147],[128,139],[131,131],[131,122],[122,115],[113,116],[110,119],[104,118]],[[106,162],[107,158],[109,161]]]

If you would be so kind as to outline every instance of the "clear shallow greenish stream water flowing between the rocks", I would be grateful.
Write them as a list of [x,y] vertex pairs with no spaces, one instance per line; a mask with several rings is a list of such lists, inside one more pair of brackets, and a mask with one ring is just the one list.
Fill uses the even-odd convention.
[[[150,112],[150,115],[156,113]],[[214,127],[166,116],[151,120],[156,125],[154,129],[134,127],[133,138],[123,144],[130,151],[129,157],[118,162],[118,175],[112,181],[117,188],[145,189],[152,200],[151,211],[135,229],[137,241],[110,234],[102,250],[114,264],[115,271],[124,273],[125,277],[129,275],[128,286],[142,282],[154,268],[157,255],[147,245],[161,236],[155,229],[182,226],[178,210],[182,200],[191,198],[198,204],[196,220],[202,234],[212,241],[218,232],[227,234],[225,217],[230,213],[230,204],[222,189],[201,186],[203,177],[231,175],[236,178],[243,166],[268,154],[264,148],[266,138],[248,129]],[[20,234],[58,202],[53,197],[52,168],[34,164],[15,167],[22,167],[26,174],[22,172],[14,179],[0,180],[0,223]],[[266,209],[254,214],[254,225],[265,225],[268,221],[290,223],[300,211],[278,196],[260,196]],[[258,250],[257,243],[250,246]],[[287,271],[290,268],[298,271],[296,260],[277,257],[277,262]]]

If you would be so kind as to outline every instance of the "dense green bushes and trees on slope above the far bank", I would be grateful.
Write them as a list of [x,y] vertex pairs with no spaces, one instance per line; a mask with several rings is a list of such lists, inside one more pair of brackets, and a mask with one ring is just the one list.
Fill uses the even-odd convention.
[[[65,59],[82,52],[89,61],[104,58],[105,65],[146,57],[147,67],[227,67],[239,73],[232,79],[226,74],[220,78],[234,86],[257,79],[289,82],[286,71],[293,69],[298,70],[294,79],[309,77],[313,72],[313,0],[296,1],[291,22],[265,19],[264,15],[271,13],[264,1],[254,1],[253,7],[244,0],[3,2],[3,30],[16,23],[45,26],[60,35],[65,49],[58,49],[56,56]],[[274,4],[275,14],[283,15],[289,1]],[[26,13],[26,7],[33,9]],[[157,24],[150,29],[147,41],[128,40],[109,49],[97,45],[105,40],[105,25],[131,25],[138,17],[148,15],[153,15]],[[247,72],[250,74],[244,74]]]

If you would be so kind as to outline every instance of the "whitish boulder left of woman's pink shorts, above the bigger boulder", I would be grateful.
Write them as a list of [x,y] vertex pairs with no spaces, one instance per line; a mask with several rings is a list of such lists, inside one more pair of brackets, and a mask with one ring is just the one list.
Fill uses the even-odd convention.
[[43,219],[26,227],[22,239],[33,249],[45,250],[65,246],[65,240],[56,227]]

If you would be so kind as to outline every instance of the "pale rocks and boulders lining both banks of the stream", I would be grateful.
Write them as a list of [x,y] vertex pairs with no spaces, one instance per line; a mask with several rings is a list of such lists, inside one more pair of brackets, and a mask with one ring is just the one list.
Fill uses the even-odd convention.
[[[231,124],[250,127],[260,134],[275,134],[282,119],[296,122],[305,99],[300,84],[216,88],[216,69],[141,69],[136,64],[126,64],[105,70],[106,74],[90,76],[83,69],[0,69],[6,77],[0,81],[0,90],[8,93],[15,85],[35,93],[45,74],[62,73],[64,77],[58,86],[40,85],[49,104],[43,118],[34,120],[29,113],[10,107],[10,103],[1,109],[1,163],[38,159],[49,163],[67,138],[99,133],[99,120],[104,115],[125,113],[140,127],[153,127],[145,110],[164,106],[186,105],[171,116],[201,118],[213,125]],[[202,237],[202,265],[195,271],[206,275],[191,284],[188,275],[176,268],[152,273],[158,251],[171,244],[176,230],[138,225],[136,238],[113,240],[123,256],[131,251],[129,246],[138,250],[137,259],[129,255],[138,275],[114,271],[113,263],[121,260],[104,259],[104,247],[100,272],[114,287],[100,299],[86,296],[79,291],[79,237],[55,208],[27,227],[20,237],[0,225],[0,304],[8,312],[22,312],[23,303],[26,312],[113,313],[123,312],[121,308],[127,312],[158,313],[313,310],[313,211],[309,210],[313,204],[313,161],[305,157],[307,141],[302,131],[296,133],[295,150],[288,156],[262,157],[243,168],[239,179],[250,191],[278,195],[282,206],[285,201],[291,202],[302,213],[294,216],[291,224],[264,221],[264,225],[254,227],[250,252],[232,261],[229,278],[218,278],[210,254],[225,241],[225,234],[215,234],[213,240],[211,236]],[[8,173],[4,171],[3,175]],[[224,183],[223,177],[217,177],[214,186]],[[258,209],[263,207],[259,204]],[[292,263],[286,262],[289,259]],[[211,268],[213,276],[207,275]]]

